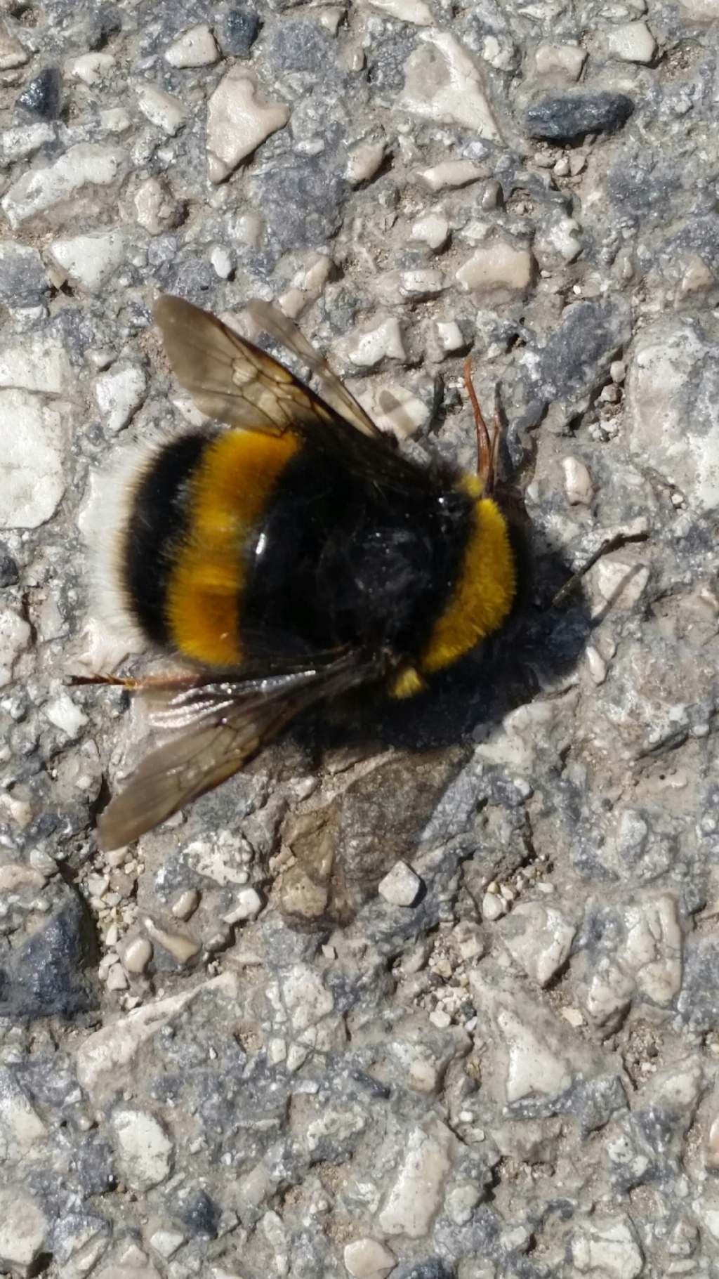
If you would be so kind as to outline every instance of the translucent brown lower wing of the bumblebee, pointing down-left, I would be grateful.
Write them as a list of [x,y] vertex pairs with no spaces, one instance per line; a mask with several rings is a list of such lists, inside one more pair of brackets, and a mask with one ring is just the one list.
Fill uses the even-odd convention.
[[120,848],[226,781],[299,711],[377,678],[380,656],[354,652],[265,678],[191,677],[180,692],[148,686],[155,728],[170,735],[150,751],[97,822],[105,851]]

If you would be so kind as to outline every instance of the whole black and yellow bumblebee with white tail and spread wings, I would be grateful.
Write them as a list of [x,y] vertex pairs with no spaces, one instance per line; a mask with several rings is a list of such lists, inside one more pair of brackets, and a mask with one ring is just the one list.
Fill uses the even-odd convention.
[[226,780],[320,701],[365,684],[420,692],[516,601],[510,521],[493,496],[498,434],[490,443],[471,379],[478,473],[420,466],[289,320],[248,310],[317,390],[189,302],[155,306],[175,377],[225,425],[147,444],[122,482],[111,586],[183,671],[91,680],[154,693],[166,733],[101,813],[104,848]]

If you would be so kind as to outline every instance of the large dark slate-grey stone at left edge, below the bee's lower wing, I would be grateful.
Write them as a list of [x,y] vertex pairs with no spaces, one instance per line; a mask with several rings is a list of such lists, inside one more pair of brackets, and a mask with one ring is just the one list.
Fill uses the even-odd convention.
[[0,1016],[77,1017],[97,1007],[83,977],[91,925],[73,895],[0,968]]

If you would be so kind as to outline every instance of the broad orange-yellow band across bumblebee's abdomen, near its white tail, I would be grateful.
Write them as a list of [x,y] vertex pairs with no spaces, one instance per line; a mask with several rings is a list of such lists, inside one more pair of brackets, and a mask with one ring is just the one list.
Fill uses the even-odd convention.
[[202,454],[191,481],[187,537],[166,601],[173,641],[188,657],[210,666],[242,660],[244,546],[298,448],[299,440],[289,432],[226,431]]

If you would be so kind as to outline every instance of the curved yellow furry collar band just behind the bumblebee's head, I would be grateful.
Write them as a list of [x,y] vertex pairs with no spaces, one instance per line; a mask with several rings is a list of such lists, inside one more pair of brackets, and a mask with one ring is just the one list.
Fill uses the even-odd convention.
[[[462,482],[472,492],[472,477]],[[473,528],[452,596],[432,627],[416,666],[400,670],[393,697],[412,697],[423,688],[422,675],[450,666],[481,640],[499,631],[509,616],[517,585],[507,521],[491,498],[475,503]]]

